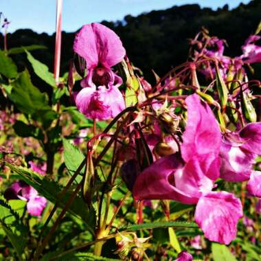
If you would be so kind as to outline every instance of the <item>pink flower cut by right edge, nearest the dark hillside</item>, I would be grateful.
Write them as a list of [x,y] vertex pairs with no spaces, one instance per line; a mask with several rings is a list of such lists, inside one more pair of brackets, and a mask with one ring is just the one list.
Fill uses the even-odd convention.
[[256,45],[256,41],[260,40],[261,36],[251,35],[242,46],[243,54],[240,56],[244,63],[260,63],[261,62],[261,46]]

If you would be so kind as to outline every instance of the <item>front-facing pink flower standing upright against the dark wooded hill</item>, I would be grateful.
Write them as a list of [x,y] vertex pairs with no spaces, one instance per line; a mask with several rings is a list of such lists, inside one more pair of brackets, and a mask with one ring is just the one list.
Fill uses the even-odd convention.
[[73,51],[86,60],[87,77],[76,96],[76,106],[89,118],[108,120],[125,108],[117,88],[122,78],[111,67],[120,63],[126,52],[119,36],[100,23],[84,25],[76,35]]

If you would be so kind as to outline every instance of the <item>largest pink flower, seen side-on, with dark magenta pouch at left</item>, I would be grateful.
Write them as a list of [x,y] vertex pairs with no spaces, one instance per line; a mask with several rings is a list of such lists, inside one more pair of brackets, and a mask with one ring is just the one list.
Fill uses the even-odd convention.
[[188,121],[182,158],[176,153],[155,161],[137,177],[133,196],[197,204],[195,220],[206,238],[229,244],[236,236],[242,205],[233,194],[212,192],[219,177],[220,130],[211,109],[198,95],[188,96],[185,102]]

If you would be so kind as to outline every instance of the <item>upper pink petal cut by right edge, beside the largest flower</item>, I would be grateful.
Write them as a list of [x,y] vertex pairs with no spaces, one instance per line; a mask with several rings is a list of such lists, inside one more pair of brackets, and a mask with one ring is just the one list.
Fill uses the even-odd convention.
[[239,133],[244,143],[240,148],[261,155],[261,122],[247,124]]

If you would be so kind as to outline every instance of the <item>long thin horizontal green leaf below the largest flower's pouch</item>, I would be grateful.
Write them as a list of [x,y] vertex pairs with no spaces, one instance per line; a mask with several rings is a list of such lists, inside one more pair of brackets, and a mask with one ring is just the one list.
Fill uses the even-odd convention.
[[179,228],[198,228],[194,222],[180,222],[180,221],[166,221],[166,222],[152,222],[139,225],[129,225],[120,227],[120,231],[136,231],[139,229],[155,229],[157,227],[179,227]]

